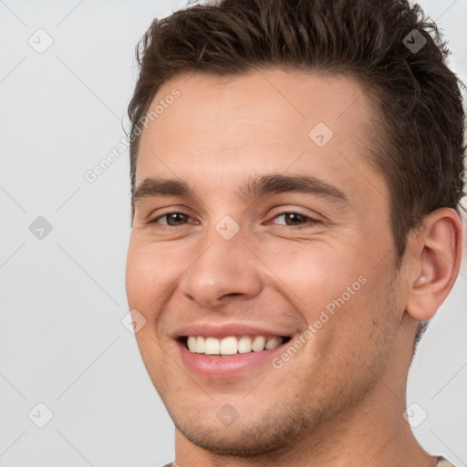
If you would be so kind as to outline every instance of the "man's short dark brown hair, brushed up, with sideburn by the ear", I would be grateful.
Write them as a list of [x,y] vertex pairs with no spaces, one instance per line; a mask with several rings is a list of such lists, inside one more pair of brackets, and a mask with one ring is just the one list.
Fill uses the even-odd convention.
[[[410,48],[414,37],[426,45]],[[448,55],[437,26],[406,0],[219,0],[156,18],[137,47],[131,192],[140,119],[176,75],[285,67],[358,78],[380,116],[372,161],[389,186],[400,265],[410,230],[438,208],[459,212],[464,194],[462,82]]]

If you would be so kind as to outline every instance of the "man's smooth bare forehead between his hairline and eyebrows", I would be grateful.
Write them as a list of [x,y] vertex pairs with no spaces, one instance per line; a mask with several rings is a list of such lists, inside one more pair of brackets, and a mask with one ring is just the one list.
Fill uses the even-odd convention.
[[379,177],[364,132],[373,104],[353,78],[283,69],[182,75],[159,89],[151,111],[137,186],[156,174],[205,185],[247,172],[294,171],[365,191],[368,177]]

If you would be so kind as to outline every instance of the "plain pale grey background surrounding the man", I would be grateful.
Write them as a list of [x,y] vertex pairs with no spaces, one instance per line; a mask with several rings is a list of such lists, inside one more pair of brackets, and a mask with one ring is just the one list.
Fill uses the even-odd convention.
[[[121,323],[128,151],[95,182],[84,174],[125,138],[138,39],[154,16],[184,3],[0,0],[0,466],[173,459],[171,420]],[[420,4],[449,37],[451,67],[467,81],[467,0]],[[39,216],[51,232],[43,220],[30,231]],[[422,446],[458,466],[467,466],[466,299],[464,262],[423,338],[408,392],[412,419],[427,414],[413,428]],[[54,415],[44,428],[38,403]]]

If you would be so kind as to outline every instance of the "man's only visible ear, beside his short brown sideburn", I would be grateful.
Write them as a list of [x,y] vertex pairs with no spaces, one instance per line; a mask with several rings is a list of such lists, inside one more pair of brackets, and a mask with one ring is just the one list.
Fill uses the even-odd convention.
[[462,221],[450,208],[430,213],[409,235],[410,290],[407,313],[419,321],[434,316],[451,292],[462,260]]

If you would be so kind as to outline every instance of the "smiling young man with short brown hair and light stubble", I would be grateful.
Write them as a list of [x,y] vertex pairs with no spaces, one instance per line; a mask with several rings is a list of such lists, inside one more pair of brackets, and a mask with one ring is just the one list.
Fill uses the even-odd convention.
[[451,465],[404,415],[462,257],[446,54],[402,0],[223,0],[150,26],[127,293],[173,465]]

